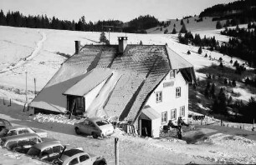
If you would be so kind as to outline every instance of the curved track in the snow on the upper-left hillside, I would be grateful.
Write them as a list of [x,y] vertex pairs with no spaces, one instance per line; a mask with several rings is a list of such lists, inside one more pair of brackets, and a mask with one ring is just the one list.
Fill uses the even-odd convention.
[[9,65],[6,68],[3,68],[0,71],[0,73],[12,71],[13,69],[21,67],[21,66],[23,66],[23,64],[25,64],[29,60],[32,60],[34,57],[38,56],[38,52],[41,51],[41,49],[44,45],[44,42],[47,39],[46,34],[44,32],[41,32],[41,31],[38,30],[38,33],[41,34],[42,39],[37,42],[37,46],[33,49],[33,52],[30,55],[28,55],[27,57],[20,58],[19,61],[16,64],[14,64],[14,65],[12,64],[12,65]]

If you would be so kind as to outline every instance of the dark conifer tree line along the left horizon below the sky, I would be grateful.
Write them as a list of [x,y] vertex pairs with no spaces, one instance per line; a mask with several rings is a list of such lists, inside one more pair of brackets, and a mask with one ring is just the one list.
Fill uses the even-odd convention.
[[87,32],[140,32],[146,33],[146,29],[156,27],[159,21],[150,15],[140,16],[131,20],[128,26],[119,20],[103,20],[92,23],[85,22],[81,17],[78,22],[60,20],[59,18],[48,18],[47,15],[24,16],[19,12],[7,14],[0,12],[0,25],[22,28],[49,28],[59,30],[87,31]]

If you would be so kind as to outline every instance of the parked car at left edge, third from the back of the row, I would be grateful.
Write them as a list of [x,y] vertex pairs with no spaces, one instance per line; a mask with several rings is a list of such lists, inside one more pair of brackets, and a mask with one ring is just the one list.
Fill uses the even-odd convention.
[[35,133],[3,137],[0,141],[2,148],[7,148],[8,150],[13,150],[18,153],[27,153],[28,149],[34,144],[43,142],[43,140],[38,137],[38,134]]

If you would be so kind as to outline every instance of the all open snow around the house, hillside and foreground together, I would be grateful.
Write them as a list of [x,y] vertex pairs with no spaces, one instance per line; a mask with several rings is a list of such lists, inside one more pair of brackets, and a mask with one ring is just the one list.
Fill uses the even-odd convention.
[[[212,37],[215,35],[219,41],[228,41],[228,37],[217,35],[218,30],[207,28],[200,31],[200,35]],[[196,33],[199,33],[197,31]],[[71,32],[49,29],[11,28],[0,26],[0,117],[8,119],[14,125],[26,125],[40,128],[49,133],[53,138],[58,138],[63,143],[84,148],[89,153],[103,155],[109,164],[114,164],[114,137],[120,138],[120,164],[186,164],[186,163],[256,163],[256,142],[253,139],[242,138],[236,135],[218,133],[215,129],[198,128],[197,131],[185,133],[187,142],[176,138],[151,139],[136,138],[123,135],[116,131],[115,135],[106,139],[93,139],[91,137],[77,136],[72,124],[61,117],[28,117],[23,112],[25,102],[26,72],[28,76],[28,100],[34,97],[34,78],[36,90],[39,92],[44,85],[58,71],[66,57],[58,52],[74,54],[74,41],[81,44],[99,44],[100,32]],[[172,34],[130,34],[110,32],[110,43],[117,44],[117,37],[127,36],[128,43],[138,44],[167,44],[175,52],[191,62],[194,67],[201,68],[218,64],[217,60],[209,60],[203,57],[205,53],[214,59],[223,57],[223,61],[229,63],[230,57],[218,52],[202,51],[197,53],[198,47],[182,45],[177,42],[177,35]],[[106,33],[109,37],[109,33]],[[192,52],[187,55],[187,51]],[[243,63],[242,60],[239,63]],[[201,79],[204,74],[197,73]],[[242,88],[235,88],[242,95],[239,99],[248,100],[255,94]],[[12,98],[12,107],[3,105],[3,98]],[[63,122],[60,122],[63,121]],[[198,134],[199,133],[199,134]],[[247,132],[246,132],[247,133]],[[250,132],[252,133],[252,132]],[[254,134],[254,136],[256,136]],[[156,152],[157,150],[157,152]],[[16,161],[18,164],[36,164],[35,160],[26,158],[17,153],[6,153],[0,149],[0,160],[3,164],[15,164],[8,161]],[[22,162],[19,162],[22,161]],[[34,162],[35,161],[35,162]]]

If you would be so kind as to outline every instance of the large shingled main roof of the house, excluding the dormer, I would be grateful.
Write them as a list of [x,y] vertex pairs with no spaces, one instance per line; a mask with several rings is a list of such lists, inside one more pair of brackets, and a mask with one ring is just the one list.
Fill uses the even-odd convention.
[[[94,72],[95,68],[101,67],[108,67],[120,74],[103,106],[105,113],[109,117],[119,117],[120,120],[135,121],[147,97],[166,74],[171,69],[188,68],[184,72],[184,75],[187,75],[192,64],[166,45],[127,45],[123,53],[118,52],[118,45],[85,45],[78,54],[74,54],[63,63],[30,106],[46,109],[54,107],[49,110],[58,109],[58,112],[64,112],[66,97],[63,93],[70,87],[75,89],[75,84],[86,77],[86,72]],[[104,74],[105,77],[110,76],[109,73]],[[192,79],[189,75],[187,79],[189,77]],[[54,92],[54,97],[59,97],[59,102],[46,99],[45,96],[49,95],[49,92]]]

